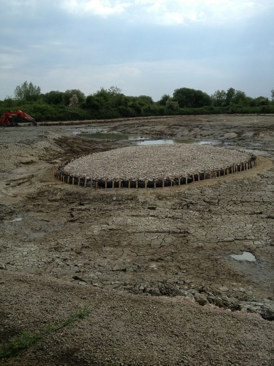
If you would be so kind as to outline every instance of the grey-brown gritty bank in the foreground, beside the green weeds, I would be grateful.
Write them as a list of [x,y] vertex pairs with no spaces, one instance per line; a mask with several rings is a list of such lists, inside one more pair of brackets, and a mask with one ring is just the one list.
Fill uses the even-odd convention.
[[87,318],[4,365],[273,365],[274,323],[256,314],[202,307],[182,297],[118,294],[18,272],[1,271],[0,281],[6,336],[22,326],[42,331],[46,323],[57,324],[80,307],[92,306]]

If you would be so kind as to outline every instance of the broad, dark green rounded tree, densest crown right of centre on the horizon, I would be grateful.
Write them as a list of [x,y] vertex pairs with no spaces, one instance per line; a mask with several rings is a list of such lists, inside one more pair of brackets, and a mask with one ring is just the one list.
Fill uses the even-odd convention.
[[180,108],[199,108],[210,105],[210,96],[202,90],[195,90],[189,88],[175,89],[173,93],[173,100],[178,101]]

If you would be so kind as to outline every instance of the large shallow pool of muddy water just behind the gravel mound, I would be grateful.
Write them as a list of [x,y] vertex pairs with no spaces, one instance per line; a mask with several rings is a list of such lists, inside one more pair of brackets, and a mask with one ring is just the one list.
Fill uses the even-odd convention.
[[210,143],[208,141],[199,141],[195,139],[159,139],[159,140],[150,140],[149,136],[145,135],[136,135],[136,134],[129,134],[129,135],[122,135],[122,134],[109,134],[109,133],[80,133],[77,134],[80,137],[85,138],[96,138],[96,139],[105,139],[105,140],[144,140],[138,142],[138,145],[154,145],[154,144],[163,144],[163,143],[191,143],[191,144],[198,144],[202,145],[205,143]]

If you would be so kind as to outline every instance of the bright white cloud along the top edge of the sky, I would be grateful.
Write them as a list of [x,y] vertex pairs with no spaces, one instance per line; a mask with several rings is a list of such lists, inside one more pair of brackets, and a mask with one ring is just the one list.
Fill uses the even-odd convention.
[[272,0],[62,0],[66,11],[81,14],[125,14],[129,22],[176,25],[187,22],[226,23],[273,7]]

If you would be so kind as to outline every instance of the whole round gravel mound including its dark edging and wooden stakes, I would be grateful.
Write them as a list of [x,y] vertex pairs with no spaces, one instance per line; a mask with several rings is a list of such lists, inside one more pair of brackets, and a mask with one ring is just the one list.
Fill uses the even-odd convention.
[[209,145],[137,145],[91,154],[56,169],[57,178],[85,187],[164,187],[253,168],[250,153]]

